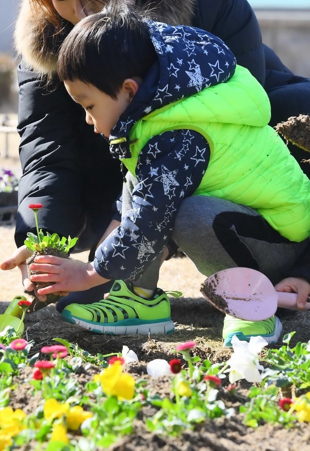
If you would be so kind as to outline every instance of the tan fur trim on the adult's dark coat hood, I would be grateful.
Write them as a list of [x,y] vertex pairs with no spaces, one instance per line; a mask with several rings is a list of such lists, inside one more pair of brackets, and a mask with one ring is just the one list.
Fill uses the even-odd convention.
[[[72,29],[72,25],[67,21],[62,21],[62,29],[59,31],[46,20],[46,23],[43,23],[44,36],[42,36],[30,2],[31,0],[21,0],[20,2],[14,31],[15,49],[28,67],[50,76],[56,69],[59,47]],[[196,0],[136,1],[136,5],[146,9],[150,17],[171,25],[190,25],[195,4]],[[43,51],[41,51],[42,46]]]

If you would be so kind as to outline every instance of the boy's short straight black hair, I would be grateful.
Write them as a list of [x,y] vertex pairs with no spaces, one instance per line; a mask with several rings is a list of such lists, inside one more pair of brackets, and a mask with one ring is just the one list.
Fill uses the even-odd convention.
[[156,52],[142,17],[116,2],[112,10],[79,22],[63,41],[60,81],[82,81],[116,99],[126,78],[144,78]]

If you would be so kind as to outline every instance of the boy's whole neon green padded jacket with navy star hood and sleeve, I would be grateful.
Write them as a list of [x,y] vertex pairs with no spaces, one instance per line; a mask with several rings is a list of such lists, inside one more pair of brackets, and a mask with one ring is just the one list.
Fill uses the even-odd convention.
[[[267,126],[270,105],[265,92],[245,69],[238,67],[235,72],[235,59],[221,40],[190,27],[172,27],[151,21],[147,24],[158,62],[145,77],[109,138],[111,154],[124,162],[136,176],[138,183],[132,193],[132,209],[123,215],[120,226],[95,254],[96,271],[108,279],[134,280],[145,270],[167,243],[182,200],[196,194],[197,188],[201,194],[208,194],[210,189],[211,192],[216,190],[217,193],[211,195],[232,201],[235,198],[231,198],[231,193],[236,193],[240,199],[240,191],[244,191],[244,201],[242,198],[239,203],[256,209],[258,207],[258,211],[259,208],[266,208],[270,220],[268,217],[266,219],[273,226],[273,218],[277,221],[281,217],[280,210],[283,207],[283,190],[278,190],[278,186],[286,179],[288,168],[291,167],[294,172],[295,166],[297,167],[285,145],[282,142],[279,144],[276,137],[274,140],[269,138],[274,135],[274,131]],[[235,76],[231,79],[234,73]],[[230,79],[226,88],[223,84]],[[219,87],[216,88],[216,85]],[[195,100],[196,97],[199,100]],[[204,105],[202,108],[201,101]],[[197,111],[193,112],[193,109]],[[155,118],[154,121],[152,118]],[[222,128],[221,123],[227,125]],[[230,130],[228,134],[227,130]],[[235,146],[231,145],[231,139],[237,142]],[[255,140],[256,146],[248,145],[248,142]],[[210,160],[209,145],[213,149],[210,161],[212,169],[208,169],[205,174]],[[266,157],[269,150],[272,152],[273,148],[275,158],[278,159],[277,149],[281,146],[283,149],[280,149],[280,160],[277,162],[280,161],[282,172],[279,171],[281,177],[276,179],[272,172],[274,167],[269,169],[269,163],[266,165],[265,162],[268,160]],[[218,154],[222,156],[218,158]],[[245,177],[242,176],[242,182],[239,182],[238,177],[243,172],[242,161],[251,159],[253,166],[246,166],[246,171],[258,169],[259,174],[264,172],[263,180],[269,179],[269,176],[272,179],[268,189],[270,196],[274,197],[273,206],[265,200],[263,184],[257,182],[253,192],[247,188],[253,182],[251,171]],[[290,161],[286,164],[287,159]],[[233,171],[233,177],[230,177],[231,169],[227,167],[227,161],[233,165],[238,161],[238,170]],[[277,162],[272,161],[276,165],[275,169],[279,169]],[[222,164],[226,166],[224,171],[221,170]],[[299,168],[298,170],[296,185],[301,185],[304,189],[301,189],[301,195],[297,194],[294,202],[297,208],[301,204],[298,220],[301,221],[302,228],[304,221],[306,222],[303,194],[305,191],[309,192],[310,186],[305,186],[302,173]],[[201,190],[202,186],[208,184],[209,174],[213,174],[210,184],[206,190]],[[226,183],[225,187],[223,177],[230,178],[232,183]],[[240,184],[237,191],[236,184]],[[295,196],[296,185],[284,190],[287,193],[291,190],[292,198]],[[289,197],[288,194],[286,197]],[[252,205],[251,202],[256,202],[257,199],[258,204]],[[272,213],[276,202],[281,208]],[[306,205],[308,204],[307,200]],[[291,205],[288,205],[287,210],[290,218]],[[273,218],[270,218],[270,214],[274,215]],[[280,219],[278,224],[276,221],[276,230],[286,227],[287,216]],[[301,237],[300,240],[304,238]]]

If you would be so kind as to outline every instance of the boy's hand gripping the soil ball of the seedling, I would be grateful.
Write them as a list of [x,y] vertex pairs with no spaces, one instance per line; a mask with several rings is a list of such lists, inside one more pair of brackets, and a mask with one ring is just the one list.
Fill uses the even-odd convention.
[[50,286],[40,288],[40,296],[59,291],[83,291],[108,281],[96,273],[92,263],[84,263],[70,257],[38,255],[34,261],[30,269],[44,274],[31,275],[31,281],[54,282]]

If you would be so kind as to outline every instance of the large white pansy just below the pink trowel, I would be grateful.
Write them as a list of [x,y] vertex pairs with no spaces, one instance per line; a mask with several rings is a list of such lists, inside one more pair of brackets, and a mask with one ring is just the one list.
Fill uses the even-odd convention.
[[230,366],[226,372],[229,372],[229,382],[234,383],[239,379],[245,379],[248,382],[261,382],[259,370],[263,366],[259,364],[258,352],[268,344],[260,336],[251,337],[249,342],[240,341],[236,335],[231,338],[233,354],[227,360]]

